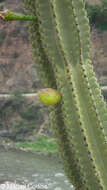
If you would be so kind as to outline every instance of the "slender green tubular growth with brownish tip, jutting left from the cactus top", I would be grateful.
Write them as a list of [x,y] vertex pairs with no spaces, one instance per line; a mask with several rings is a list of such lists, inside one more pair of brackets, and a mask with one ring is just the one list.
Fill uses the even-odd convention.
[[24,15],[21,13],[15,13],[10,10],[4,10],[0,11],[0,18],[3,21],[13,21],[13,20],[21,20],[21,21],[35,21],[36,17],[35,16],[30,16],[30,15]]

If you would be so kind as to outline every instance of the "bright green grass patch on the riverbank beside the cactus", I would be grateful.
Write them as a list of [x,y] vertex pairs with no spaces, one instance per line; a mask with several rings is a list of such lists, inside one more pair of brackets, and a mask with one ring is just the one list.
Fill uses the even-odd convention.
[[37,136],[33,142],[17,142],[16,148],[25,148],[31,152],[40,152],[45,154],[58,154],[56,142],[48,136]]

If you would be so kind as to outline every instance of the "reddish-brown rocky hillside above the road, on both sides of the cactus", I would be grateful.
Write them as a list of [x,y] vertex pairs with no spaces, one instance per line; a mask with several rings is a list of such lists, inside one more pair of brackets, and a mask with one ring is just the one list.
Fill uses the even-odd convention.
[[[90,0],[90,3],[93,1]],[[95,2],[99,2],[96,0]],[[0,9],[23,12],[23,0],[1,0]],[[107,83],[107,31],[91,32],[92,62],[98,80]],[[35,92],[41,83],[32,57],[26,22],[0,22],[0,93]]]

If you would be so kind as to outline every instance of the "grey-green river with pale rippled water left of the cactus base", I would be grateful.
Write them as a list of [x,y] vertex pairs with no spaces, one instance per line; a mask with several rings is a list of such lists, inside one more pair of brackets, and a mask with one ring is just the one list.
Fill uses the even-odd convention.
[[0,190],[73,190],[58,159],[0,148]]

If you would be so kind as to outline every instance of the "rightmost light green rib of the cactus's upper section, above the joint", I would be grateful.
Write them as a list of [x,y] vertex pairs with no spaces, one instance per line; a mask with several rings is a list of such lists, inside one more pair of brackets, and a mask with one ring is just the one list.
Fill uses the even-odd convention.
[[90,27],[89,20],[85,11],[83,0],[72,1],[72,8],[75,16],[75,23],[79,32],[81,43],[81,53],[84,64],[90,59]]

